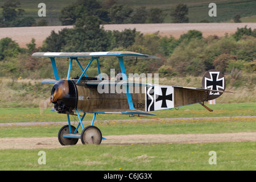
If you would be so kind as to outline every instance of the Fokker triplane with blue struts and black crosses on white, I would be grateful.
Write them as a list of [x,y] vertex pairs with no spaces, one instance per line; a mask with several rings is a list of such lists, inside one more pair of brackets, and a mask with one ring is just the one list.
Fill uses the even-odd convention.
[[[156,85],[134,82],[127,79],[124,59],[160,59],[136,52],[36,52],[32,56],[49,57],[54,73],[54,80],[43,80],[42,83],[54,84],[50,101],[54,110],[67,114],[68,125],[61,127],[58,138],[62,145],[76,144],[79,139],[83,144],[100,144],[101,131],[93,126],[96,114],[126,114],[130,116],[151,117],[148,111],[172,109],[180,106],[201,104],[213,100],[225,92],[225,78],[221,72],[210,70],[205,73],[203,88],[187,88],[181,86]],[[60,79],[56,67],[56,58],[69,59],[67,79]],[[101,78],[100,58],[114,57],[119,61],[122,79],[104,80]],[[89,59],[85,68],[80,61]],[[81,75],[70,79],[72,62],[81,68]],[[84,60],[82,60],[84,61]],[[97,61],[98,77],[88,77],[86,71],[93,61]],[[119,88],[119,89],[112,89]],[[139,88],[139,89],[138,89]],[[137,89],[139,92],[134,92]],[[85,127],[82,123],[86,113],[93,113],[92,123]],[[81,115],[80,115],[81,114]],[[71,125],[69,115],[77,115],[79,124]],[[79,133],[79,127],[82,132]]]

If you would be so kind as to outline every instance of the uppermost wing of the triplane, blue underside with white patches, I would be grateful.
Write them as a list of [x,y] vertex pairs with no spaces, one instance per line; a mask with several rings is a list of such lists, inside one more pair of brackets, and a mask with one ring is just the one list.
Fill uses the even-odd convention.
[[125,57],[129,59],[160,59],[160,57],[143,55],[130,51],[116,52],[35,52],[32,56],[40,57]]

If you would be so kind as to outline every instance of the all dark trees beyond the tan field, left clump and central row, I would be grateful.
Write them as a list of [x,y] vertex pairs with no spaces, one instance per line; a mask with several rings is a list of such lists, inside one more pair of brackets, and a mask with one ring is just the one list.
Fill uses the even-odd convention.
[[[25,10],[21,9],[18,0],[7,0],[0,15],[0,27],[30,27],[47,26],[45,19],[36,22],[32,16],[24,16]],[[96,16],[101,23],[163,23],[166,13],[162,9],[146,6],[137,7],[133,10],[129,6],[119,5],[115,0],[105,0],[101,3],[94,0],[77,0],[71,5],[65,6],[59,15],[63,26],[74,25],[76,21],[85,19],[87,16]],[[176,5],[170,10],[174,23],[188,23],[188,7],[184,4]]]

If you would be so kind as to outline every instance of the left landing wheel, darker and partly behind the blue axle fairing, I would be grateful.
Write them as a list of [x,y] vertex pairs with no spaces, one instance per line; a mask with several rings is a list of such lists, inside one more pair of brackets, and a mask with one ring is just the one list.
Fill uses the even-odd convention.
[[[71,131],[72,133],[74,133],[76,130],[75,126],[71,126]],[[77,131],[78,133],[78,131]],[[64,138],[63,135],[64,134],[69,134],[69,127],[68,125],[65,125],[63,127],[61,127],[59,134],[58,134],[58,139],[61,145],[63,146],[68,146],[68,145],[73,145],[76,144],[78,142],[78,138]]]

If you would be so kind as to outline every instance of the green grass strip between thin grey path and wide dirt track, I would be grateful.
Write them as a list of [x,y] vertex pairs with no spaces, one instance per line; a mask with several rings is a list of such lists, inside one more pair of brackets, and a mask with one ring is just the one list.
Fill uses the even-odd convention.
[[[96,121],[103,136],[132,134],[207,134],[255,132],[255,118],[210,118],[210,119],[177,119],[136,120],[136,121]],[[59,129],[67,123],[36,126],[1,126],[0,138],[6,137],[56,137]],[[72,122],[77,126],[77,122]],[[90,125],[90,123],[87,123]],[[85,125],[85,126],[87,126]],[[81,133],[81,127],[79,132]]]

